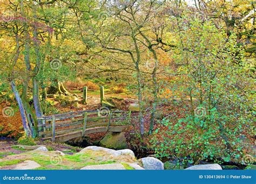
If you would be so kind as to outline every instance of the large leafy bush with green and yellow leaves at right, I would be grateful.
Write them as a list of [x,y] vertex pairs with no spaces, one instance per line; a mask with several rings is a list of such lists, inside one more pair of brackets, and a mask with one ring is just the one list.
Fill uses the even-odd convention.
[[183,77],[168,84],[185,105],[180,116],[159,122],[151,143],[158,157],[184,165],[242,160],[254,141],[253,80],[244,49],[211,22],[185,20],[174,55],[183,64],[177,70]]

